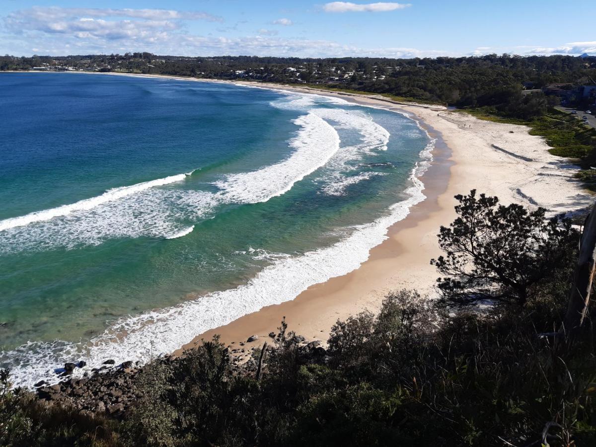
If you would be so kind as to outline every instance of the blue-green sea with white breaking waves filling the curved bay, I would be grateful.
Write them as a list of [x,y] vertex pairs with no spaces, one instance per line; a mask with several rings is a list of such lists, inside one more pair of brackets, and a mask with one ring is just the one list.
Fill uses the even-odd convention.
[[423,198],[426,132],[339,99],[2,73],[0,104],[0,364],[18,383],[293,299]]

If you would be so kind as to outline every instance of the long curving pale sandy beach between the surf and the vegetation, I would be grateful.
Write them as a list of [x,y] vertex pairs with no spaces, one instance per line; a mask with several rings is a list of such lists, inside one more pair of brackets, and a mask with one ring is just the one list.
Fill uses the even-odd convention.
[[[430,167],[420,177],[426,198],[410,207],[405,218],[389,226],[387,239],[370,250],[368,259],[359,268],[312,285],[293,300],[265,306],[229,324],[197,334],[191,343],[176,350],[175,355],[215,334],[219,334],[225,344],[246,343],[253,335],[262,339],[275,331],[283,316],[287,318],[289,330],[308,340],[326,341],[338,318],[345,319],[364,309],[376,311],[389,291],[417,288],[423,296],[429,294],[432,298],[438,274],[430,265],[430,259],[440,254],[436,238],[440,226],[448,225],[455,218],[455,194],[467,194],[476,188],[479,193],[497,195],[504,204],[516,202],[532,207],[538,203],[554,212],[575,210],[592,203],[592,196],[582,191],[581,182],[572,179],[569,161],[548,153],[544,139],[529,135],[526,126],[482,121],[441,105],[406,104],[379,95],[274,83],[134,73],[64,73],[228,83],[336,97],[408,114],[437,140]],[[257,339],[246,344],[250,347],[261,343],[262,340]]]

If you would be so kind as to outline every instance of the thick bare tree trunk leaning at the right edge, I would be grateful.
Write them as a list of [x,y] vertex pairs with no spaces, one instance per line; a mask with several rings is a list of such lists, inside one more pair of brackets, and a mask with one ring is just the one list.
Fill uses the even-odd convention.
[[561,331],[571,342],[581,328],[588,311],[592,283],[596,273],[596,204],[592,207],[579,240],[578,265]]

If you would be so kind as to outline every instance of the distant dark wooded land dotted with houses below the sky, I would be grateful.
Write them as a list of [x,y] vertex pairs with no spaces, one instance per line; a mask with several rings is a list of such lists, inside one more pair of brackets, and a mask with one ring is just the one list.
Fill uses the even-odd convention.
[[[398,95],[457,107],[499,106],[527,119],[540,114],[544,98],[522,98],[550,83],[593,84],[596,57],[517,56],[437,58],[281,58],[253,56],[178,57],[147,52],[67,57],[0,57],[0,70],[64,66],[71,69],[154,73],[269,82],[315,83]],[[519,113],[520,108],[526,109]]]

